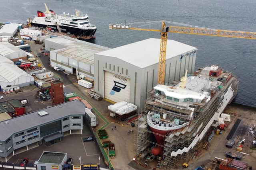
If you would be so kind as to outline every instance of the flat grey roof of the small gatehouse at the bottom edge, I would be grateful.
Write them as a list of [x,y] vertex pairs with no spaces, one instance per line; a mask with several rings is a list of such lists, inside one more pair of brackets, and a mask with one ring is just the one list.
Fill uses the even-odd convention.
[[67,153],[44,151],[38,163],[61,164]]

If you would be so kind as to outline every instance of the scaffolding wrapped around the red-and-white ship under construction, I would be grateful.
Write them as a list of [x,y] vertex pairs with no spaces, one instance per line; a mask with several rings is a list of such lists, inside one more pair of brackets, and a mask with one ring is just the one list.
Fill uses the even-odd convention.
[[[227,88],[233,84],[234,94],[237,92],[238,80],[234,77],[226,83],[222,83],[224,88],[214,90],[212,93],[211,100],[209,102],[193,103],[189,102],[189,105],[193,105],[194,119],[190,121],[189,125],[178,130],[169,131],[166,135],[161,135],[150,131],[147,125],[147,114],[149,111],[155,113],[166,113],[168,119],[181,119],[188,121],[191,110],[187,109],[186,106],[176,106],[175,104],[167,104],[165,102],[159,102],[161,96],[155,96],[154,93],[150,92],[150,96],[145,101],[144,111],[138,116],[136,125],[138,126],[138,134],[136,138],[136,157],[145,158],[148,155],[148,150],[153,146],[160,146],[163,148],[161,163],[164,167],[176,166],[187,162],[194,154],[196,146],[204,139],[208,129],[205,129],[206,125],[209,124],[209,120],[212,119],[214,114],[219,110],[219,106],[223,100],[223,94]],[[156,102],[157,101],[157,102]],[[204,131],[203,131],[204,130]],[[206,132],[205,132],[206,130]],[[196,136],[203,134],[202,138],[198,141],[193,141]],[[159,145],[150,138],[152,135],[159,135],[164,137],[164,145]],[[193,143],[194,142],[194,143]],[[190,145],[193,146],[190,147]],[[186,151],[183,151],[187,148]],[[176,154],[172,154],[172,153]]]

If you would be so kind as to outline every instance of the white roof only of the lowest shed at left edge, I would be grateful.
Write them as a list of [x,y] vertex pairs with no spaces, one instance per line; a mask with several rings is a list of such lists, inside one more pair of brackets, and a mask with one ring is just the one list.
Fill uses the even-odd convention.
[[20,76],[26,76],[34,79],[33,76],[14,64],[0,63],[0,82],[12,82]]

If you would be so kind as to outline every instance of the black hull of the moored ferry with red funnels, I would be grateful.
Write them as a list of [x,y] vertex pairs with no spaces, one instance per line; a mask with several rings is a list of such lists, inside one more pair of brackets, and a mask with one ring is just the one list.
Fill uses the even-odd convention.
[[[38,23],[31,23],[31,25],[35,27],[43,27],[43,28],[46,28],[47,26],[48,28],[51,28],[54,31],[58,31],[56,25],[43,25]],[[97,28],[96,29],[80,29],[80,28],[67,27],[67,26],[60,25],[60,30],[64,33],[70,33],[77,36],[94,36]]]

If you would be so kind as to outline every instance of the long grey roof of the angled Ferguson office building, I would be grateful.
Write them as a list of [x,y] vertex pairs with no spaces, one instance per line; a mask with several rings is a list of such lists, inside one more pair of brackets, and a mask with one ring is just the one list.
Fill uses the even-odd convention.
[[[46,111],[49,114],[40,116],[39,111]],[[31,113],[20,115],[8,120],[0,122],[0,141],[5,141],[12,134],[24,131],[33,127],[38,127],[42,124],[52,122],[56,119],[61,119],[69,115],[84,115],[85,105],[78,101],[72,100],[48,108],[40,109]]]

